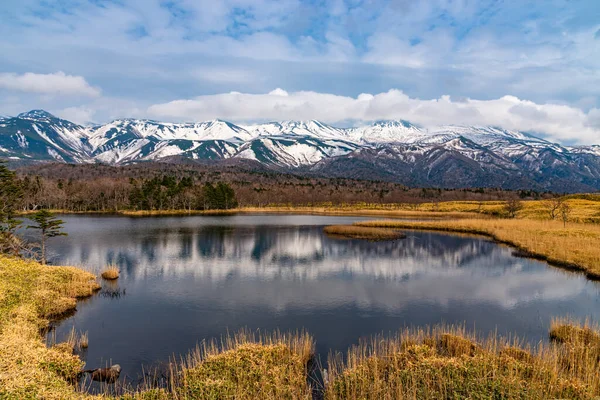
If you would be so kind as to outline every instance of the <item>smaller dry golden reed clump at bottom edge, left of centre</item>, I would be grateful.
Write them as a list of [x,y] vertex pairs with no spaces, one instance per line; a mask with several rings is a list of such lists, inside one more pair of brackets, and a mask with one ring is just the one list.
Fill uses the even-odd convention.
[[173,397],[311,399],[307,369],[313,354],[313,339],[302,332],[241,331],[203,342],[174,374]]

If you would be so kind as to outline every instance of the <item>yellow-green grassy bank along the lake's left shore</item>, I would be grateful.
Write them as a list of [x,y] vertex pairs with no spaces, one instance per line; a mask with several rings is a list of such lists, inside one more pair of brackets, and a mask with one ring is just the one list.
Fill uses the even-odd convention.
[[70,344],[48,348],[40,330],[75,310],[99,288],[74,267],[48,267],[0,256],[0,398],[69,399],[82,367]]

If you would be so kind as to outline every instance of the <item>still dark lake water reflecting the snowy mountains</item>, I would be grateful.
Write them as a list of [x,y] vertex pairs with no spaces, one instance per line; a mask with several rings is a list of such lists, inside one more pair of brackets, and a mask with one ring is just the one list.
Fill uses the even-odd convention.
[[373,219],[361,217],[63,219],[69,236],[49,241],[54,264],[114,262],[121,276],[80,302],[56,337],[88,331],[86,368],[118,363],[129,382],[142,367],[243,327],[304,328],[324,363],[330,350],[405,326],[464,323],[537,342],[553,316],[600,320],[598,283],[485,239],[407,232],[368,242],[322,232]]

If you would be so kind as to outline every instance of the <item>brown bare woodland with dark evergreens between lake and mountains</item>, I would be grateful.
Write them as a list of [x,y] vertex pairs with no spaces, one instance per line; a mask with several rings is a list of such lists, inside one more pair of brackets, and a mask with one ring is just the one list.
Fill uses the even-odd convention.
[[292,175],[240,166],[43,164],[16,170],[23,211],[210,210],[269,205],[419,204],[540,199],[551,193],[493,188],[409,188],[385,181]]

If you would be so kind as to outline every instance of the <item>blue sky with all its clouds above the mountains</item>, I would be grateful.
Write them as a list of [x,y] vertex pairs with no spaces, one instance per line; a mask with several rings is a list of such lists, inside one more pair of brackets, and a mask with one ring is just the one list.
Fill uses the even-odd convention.
[[599,0],[2,0],[0,115],[404,119],[600,144]]

